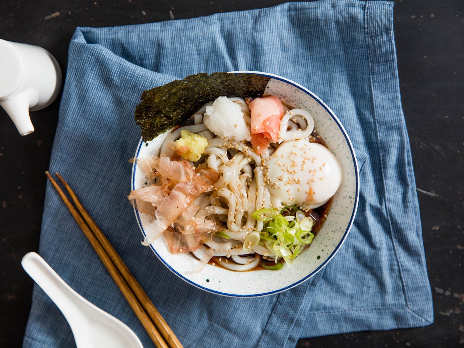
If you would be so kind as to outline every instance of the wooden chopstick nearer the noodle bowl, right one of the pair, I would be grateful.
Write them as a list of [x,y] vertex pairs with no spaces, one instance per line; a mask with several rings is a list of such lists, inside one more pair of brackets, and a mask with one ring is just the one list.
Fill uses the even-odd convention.
[[95,234],[100,244],[103,246],[105,251],[108,253],[108,256],[110,256],[111,260],[116,265],[122,277],[124,277],[127,284],[129,284],[135,296],[137,296],[138,300],[142,304],[143,308],[147,311],[150,318],[155,323],[161,335],[164,337],[166,342],[168,342],[169,347],[181,348],[182,344],[180,343],[179,339],[176,337],[176,335],[174,335],[174,332],[169,327],[168,323],[161,316],[160,312],[158,312],[158,309],[156,309],[155,305],[150,301],[149,297],[147,296],[145,291],[142,289],[142,286],[140,286],[140,284],[137,282],[135,277],[132,275],[131,271],[129,271],[129,268],[126,266],[124,261],[122,261],[121,257],[118,255],[116,250],[113,248],[110,241],[105,237],[102,230],[100,230],[100,228],[97,226],[94,219],[92,219],[90,214],[85,210],[84,206],[82,205],[80,200],[77,198],[76,193],[74,193],[74,191],[71,189],[69,184],[66,182],[66,180],[63,179],[63,177],[59,173],[55,173],[55,174],[57,175],[58,179],[63,183],[64,188],[66,188],[66,190],[68,191],[69,195],[71,196],[71,199],[73,200],[74,204],[77,206],[77,209],[82,214],[87,224],[90,226],[90,229]]

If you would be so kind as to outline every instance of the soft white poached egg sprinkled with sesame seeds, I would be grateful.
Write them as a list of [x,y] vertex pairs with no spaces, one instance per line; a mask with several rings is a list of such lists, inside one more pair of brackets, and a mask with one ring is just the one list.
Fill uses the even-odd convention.
[[269,191],[283,206],[317,208],[342,184],[342,167],[335,155],[306,139],[282,142],[265,164]]

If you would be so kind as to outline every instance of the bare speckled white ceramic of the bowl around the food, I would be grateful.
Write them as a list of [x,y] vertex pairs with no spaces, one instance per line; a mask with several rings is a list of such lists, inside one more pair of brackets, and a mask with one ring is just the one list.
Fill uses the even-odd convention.
[[[163,236],[150,245],[160,261],[187,283],[218,295],[253,297],[276,294],[288,290],[324,267],[342,246],[353,223],[359,196],[359,173],[353,146],[334,112],[314,93],[284,77],[258,71],[233,71],[232,73],[259,74],[271,77],[264,94],[279,97],[293,108],[308,110],[315,120],[315,129],[328,148],[340,161],[343,170],[342,185],[335,193],[332,207],[322,229],[308,250],[300,254],[291,267],[286,265],[279,271],[234,272],[210,264],[200,273],[187,273],[199,261],[190,254],[171,254]],[[151,142],[140,140],[135,156],[159,155],[159,148],[167,133]],[[131,189],[145,187],[148,179],[135,163],[132,171]],[[142,234],[153,218],[138,213],[135,217]]]

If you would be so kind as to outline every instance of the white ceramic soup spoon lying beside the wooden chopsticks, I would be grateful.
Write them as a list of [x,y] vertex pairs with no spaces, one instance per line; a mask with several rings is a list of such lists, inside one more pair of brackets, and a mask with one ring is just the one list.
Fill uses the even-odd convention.
[[134,331],[72,290],[39,254],[27,253],[21,264],[63,313],[77,348],[143,348]]

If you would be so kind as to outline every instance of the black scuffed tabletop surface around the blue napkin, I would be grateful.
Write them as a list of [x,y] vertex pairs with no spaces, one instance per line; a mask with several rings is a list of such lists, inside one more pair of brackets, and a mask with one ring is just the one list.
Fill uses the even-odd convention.
[[[273,6],[281,0],[1,0],[0,38],[43,46],[65,73],[76,26],[120,26]],[[418,187],[435,322],[418,329],[302,339],[298,347],[464,347],[464,1],[395,0],[403,110]],[[1,54],[1,52],[0,52]],[[20,260],[37,251],[58,99],[32,113],[21,137],[0,109],[0,347],[19,347],[32,280]]]

